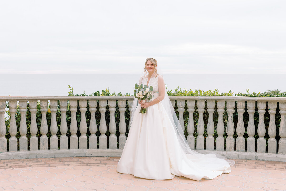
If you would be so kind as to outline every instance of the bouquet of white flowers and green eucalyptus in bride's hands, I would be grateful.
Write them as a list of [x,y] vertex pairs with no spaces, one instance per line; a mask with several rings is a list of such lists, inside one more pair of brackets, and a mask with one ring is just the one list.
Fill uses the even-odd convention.
[[[151,91],[153,91],[152,86],[142,84],[139,86],[138,84],[135,84],[134,96],[145,103],[146,98],[152,99],[152,97],[154,97],[154,95],[151,95]],[[141,107],[140,113],[147,113],[146,108]]]

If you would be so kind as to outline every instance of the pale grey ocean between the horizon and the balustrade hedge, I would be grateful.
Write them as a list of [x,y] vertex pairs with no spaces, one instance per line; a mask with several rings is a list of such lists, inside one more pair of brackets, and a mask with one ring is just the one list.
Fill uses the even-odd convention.
[[[139,77],[130,74],[0,74],[0,96],[66,96],[68,85],[74,94],[110,89],[110,92],[132,93]],[[218,89],[228,92],[286,91],[285,74],[165,74],[167,89],[177,86],[187,90]]]

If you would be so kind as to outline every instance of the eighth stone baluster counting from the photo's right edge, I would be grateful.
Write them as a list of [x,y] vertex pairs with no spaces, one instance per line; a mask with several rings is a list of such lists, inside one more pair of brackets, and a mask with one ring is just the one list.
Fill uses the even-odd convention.
[[206,106],[208,107],[208,124],[206,126],[206,132],[208,136],[206,137],[206,150],[213,151],[215,150],[215,137],[213,134],[215,133],[215,125],[213,115],[215,112],[215,101],[206,101]]

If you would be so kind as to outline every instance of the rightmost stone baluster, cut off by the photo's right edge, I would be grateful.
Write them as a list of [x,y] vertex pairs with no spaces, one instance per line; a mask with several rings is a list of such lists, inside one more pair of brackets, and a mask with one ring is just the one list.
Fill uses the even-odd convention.
[[278,153],[286,154],[286,123],[285,123],[285,115],[286,115],[286,102],[279,103],[279,113],[281,115],[280,119],[280,127],[279,127],[279,142],[278,142]]

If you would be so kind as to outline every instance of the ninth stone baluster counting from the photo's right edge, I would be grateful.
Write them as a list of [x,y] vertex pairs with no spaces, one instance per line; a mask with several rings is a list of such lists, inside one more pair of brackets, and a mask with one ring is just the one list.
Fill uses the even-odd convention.
[[204,113],[204,107],[205,107],[205,101],[204,100],[198,100],[197,101],[198,106],[198,126],[197,126],[197,150],[204,150],[204,119],[203,119],[203,113]]

